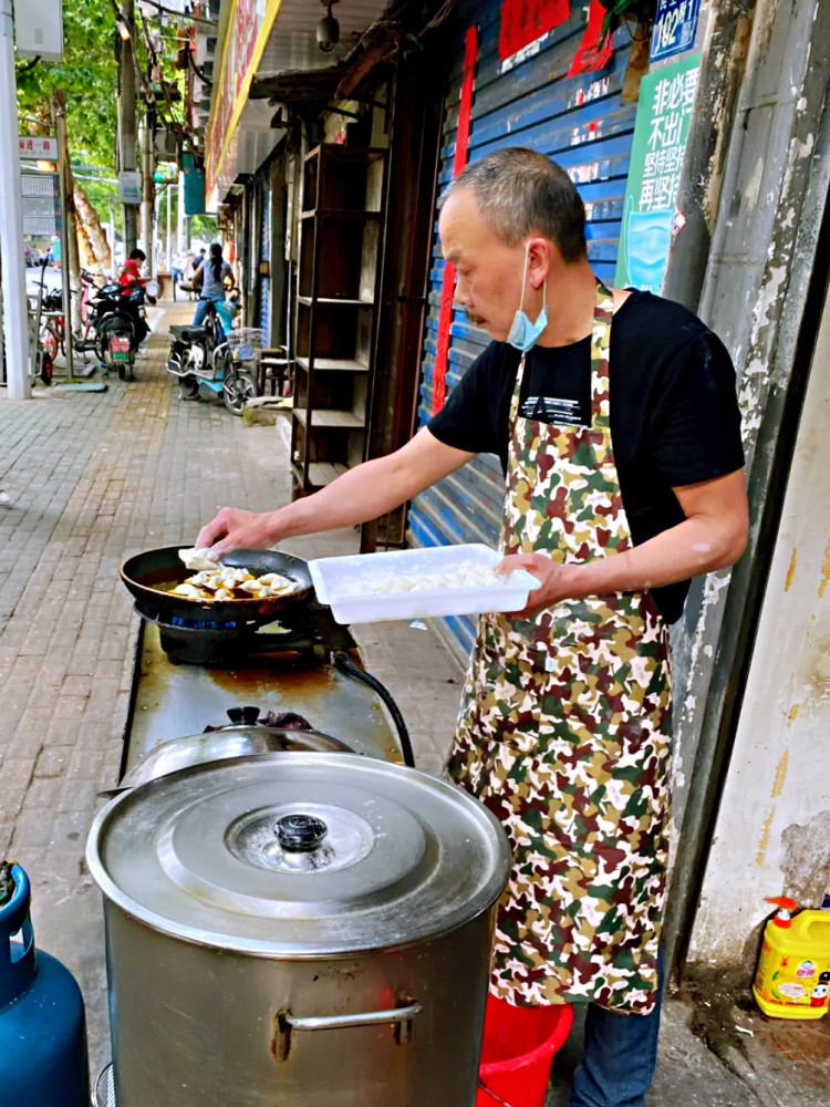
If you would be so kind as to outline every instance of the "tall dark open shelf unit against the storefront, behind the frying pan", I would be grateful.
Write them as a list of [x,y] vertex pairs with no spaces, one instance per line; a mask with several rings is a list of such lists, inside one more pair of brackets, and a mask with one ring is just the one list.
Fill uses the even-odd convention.
[[318,146],[303,163],[293,495],[363,461],[373,372],[386,151]]

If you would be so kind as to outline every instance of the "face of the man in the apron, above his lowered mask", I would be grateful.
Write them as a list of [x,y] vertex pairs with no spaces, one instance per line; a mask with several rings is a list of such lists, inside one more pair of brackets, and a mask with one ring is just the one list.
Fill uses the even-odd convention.
[[[487,226],[469,188],[453,193],[438,223],[442,249],[457,273],[455,302],[470,322],[504,342],[521,299],[525,244],[506,246]],[[536,298],[526,297],[526,308]]]

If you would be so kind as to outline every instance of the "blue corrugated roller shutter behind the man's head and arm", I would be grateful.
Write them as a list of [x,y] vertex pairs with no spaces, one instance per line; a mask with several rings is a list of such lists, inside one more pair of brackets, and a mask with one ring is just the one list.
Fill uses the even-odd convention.
[[[589,258],[598,276],[613,281],[625,182],[636,104],[622,106],[620,95],[629,61],[624,29],[614,54],[599,73],[567,77],[587,24],[588,4],[574,3],[573,14],[541,43],[539,52],[501,73],[498,52],[500,2],[465,2],[457,13],[457,48],[445,104],[444,147],[439,189],[452,178],[458,101],[464,60],[464,33],[478,23],[479,48],[473,100],[469,161],[505,146],[526,146],[552,157],[571,175],[588,211]],[[429,284],[429,314],[424,341],[419,422],[429,420],[444,261],[437,240],[437,213]],[[464,312],[454,312],[447,391],[488,344],[485,331]],[[409,513],[413,546],[498,540],[504,477],[494,455],[481,455],[440,484],[423,493]],[[467,655],[475,633],[468,619],[445,620],[447,637],[459,655]]]

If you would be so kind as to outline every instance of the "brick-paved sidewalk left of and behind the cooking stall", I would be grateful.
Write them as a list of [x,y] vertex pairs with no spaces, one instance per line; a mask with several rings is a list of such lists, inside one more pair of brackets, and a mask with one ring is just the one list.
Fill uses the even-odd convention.
[[[159,312],[134,383],[0,400],[0,487],[12,497],[0,507],[0,857],[28,870],[38,941],[79,976],[94,1072],[110,1045],[101,900],[84,849],[96,795],[117,777],[137,631],[118,565],[190,545],[222,504],[264,510],[290,498],[279,428],[246,426],[219,402],[178,401],[164,371],[166,332],[191,312]],[[352,552],[356,536],[291,548]],[[456,663],[432,634],[395,624],[365,628],[362,644],[369,668],[406,701],[419,764],[436,769]]]

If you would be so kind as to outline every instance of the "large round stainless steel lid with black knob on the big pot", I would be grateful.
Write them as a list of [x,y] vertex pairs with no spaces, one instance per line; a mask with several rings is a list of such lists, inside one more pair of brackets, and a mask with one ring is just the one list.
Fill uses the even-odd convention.
[[142,785],[97,816],[87,862],[156,930],[267,956],[391,949],[474,919],[510,862],[453,785],[353,754],[268,753]]

